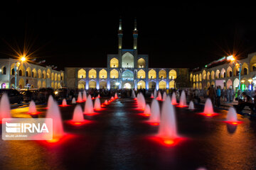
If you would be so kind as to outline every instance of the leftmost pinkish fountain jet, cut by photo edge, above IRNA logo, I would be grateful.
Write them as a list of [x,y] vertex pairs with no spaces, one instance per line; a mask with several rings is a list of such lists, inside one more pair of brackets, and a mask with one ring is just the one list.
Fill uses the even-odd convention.
[[11,118],[10,108],[9,98],[7,94],[3,94],[0,101],[0,123],[3,118]]

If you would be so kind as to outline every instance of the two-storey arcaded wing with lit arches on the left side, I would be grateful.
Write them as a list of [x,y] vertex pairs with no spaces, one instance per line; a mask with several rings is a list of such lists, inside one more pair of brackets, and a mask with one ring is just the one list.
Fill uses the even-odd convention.
[[[0,59],[0,88],[14,88],[15,65],[18,60]],[[20,62],[17,69],[17,88],[42,88],[51,87],[59,89],[64,84],[64,72],[57,71],[48,66]]]

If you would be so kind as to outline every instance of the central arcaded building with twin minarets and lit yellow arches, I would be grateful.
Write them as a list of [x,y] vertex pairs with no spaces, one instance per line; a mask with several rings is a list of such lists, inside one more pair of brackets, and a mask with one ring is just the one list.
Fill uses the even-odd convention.
[[136,19],[133,49],[122,48],[122,37],[120,19],[118,54],[107,55],[107,68],[65,67],[66,86],[73,89],[171,89],[176,87],[177,77],[188,79],[189,72],[186,68],[149,68],[149,56],[139,55],[137,51]]

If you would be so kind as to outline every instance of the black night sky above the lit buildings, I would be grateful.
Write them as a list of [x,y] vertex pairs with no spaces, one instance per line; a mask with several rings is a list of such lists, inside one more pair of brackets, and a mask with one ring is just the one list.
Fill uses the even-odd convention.
[[31,57],[59,69],[107,67],[107,54],[117,53],[120,16],[124,48],[132,48],[137,17],[138,52],[149,55],[149,67],[195,68],[233,52],[245,57],[256,51],[252,4],[99,4],[1,4],[0,55],[13,55],[11,47],[23,49],[26,42]]

